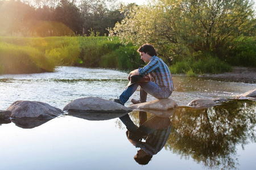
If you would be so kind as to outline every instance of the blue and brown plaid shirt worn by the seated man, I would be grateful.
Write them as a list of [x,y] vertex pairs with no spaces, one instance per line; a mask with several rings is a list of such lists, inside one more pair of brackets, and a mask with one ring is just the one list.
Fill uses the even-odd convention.
[[139,68],[139,74],[143,76],[149,74],[152,82],[160,87],[167,87],[171,92],[174,91],[171,72],[166,63],[159,57],[151,57],[146,66]]

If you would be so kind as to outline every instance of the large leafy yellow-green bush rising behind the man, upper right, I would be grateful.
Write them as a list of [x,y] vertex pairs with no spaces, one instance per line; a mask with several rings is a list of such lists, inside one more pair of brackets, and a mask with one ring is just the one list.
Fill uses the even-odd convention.
[[237,36],[255,35],[249,0],[168,0],[134,6],[110,32],[124,42],[154,45],[169,61],[194,52],[213,52],[226,59]]

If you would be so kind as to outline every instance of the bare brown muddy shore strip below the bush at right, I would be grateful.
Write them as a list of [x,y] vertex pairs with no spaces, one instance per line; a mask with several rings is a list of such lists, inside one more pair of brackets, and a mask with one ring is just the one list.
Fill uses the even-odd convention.
[[[173,76],[186,76],[185,74],[174,74]],[[221,74],[199,75],[201,78],[214,80],[227,80],[231,82],[256,83],[256,67],[233,67],[233,71]]]

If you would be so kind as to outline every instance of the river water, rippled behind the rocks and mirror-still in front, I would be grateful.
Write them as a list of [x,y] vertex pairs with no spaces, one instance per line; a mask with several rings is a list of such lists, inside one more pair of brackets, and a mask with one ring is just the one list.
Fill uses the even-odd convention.
[[[80,67],[0,75],[0,110],[16,100],[43,101],[60,109],[81,97],[113,100],[126,86],[126,78],[127,73],[120,71]],[[208,109],[182,106],[200,98],[231,99],[256,84],[184,77],[174,77],[174,83],[171,97],[180,107],[161,120],[171,122],[165,133],[168,138],[147,165],[135,162],[140,148],[127,139],[126,126],[119,118],[97,121],[94,117],[92,121],[93,116],[67,114],[44,122],[1,121],[0,169],[255,169],[254,101],[230,100]],[[139,91],[133,98],[138,96]],[[148,100],[154,98],[148,96]],[[139,113],[129,115],[139,126]]]

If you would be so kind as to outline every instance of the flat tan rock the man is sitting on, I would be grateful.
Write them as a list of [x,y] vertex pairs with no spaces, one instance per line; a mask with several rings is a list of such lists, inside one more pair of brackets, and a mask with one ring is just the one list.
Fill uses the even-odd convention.
[[172,108],[176,108],[177,103],[176,101],[172,99],[158,99],[158,100],[152,100],[145,103],[139,103],[139,104],[131,104],[128,108],[133,110],[158,110],[158,111],[167,111]]

